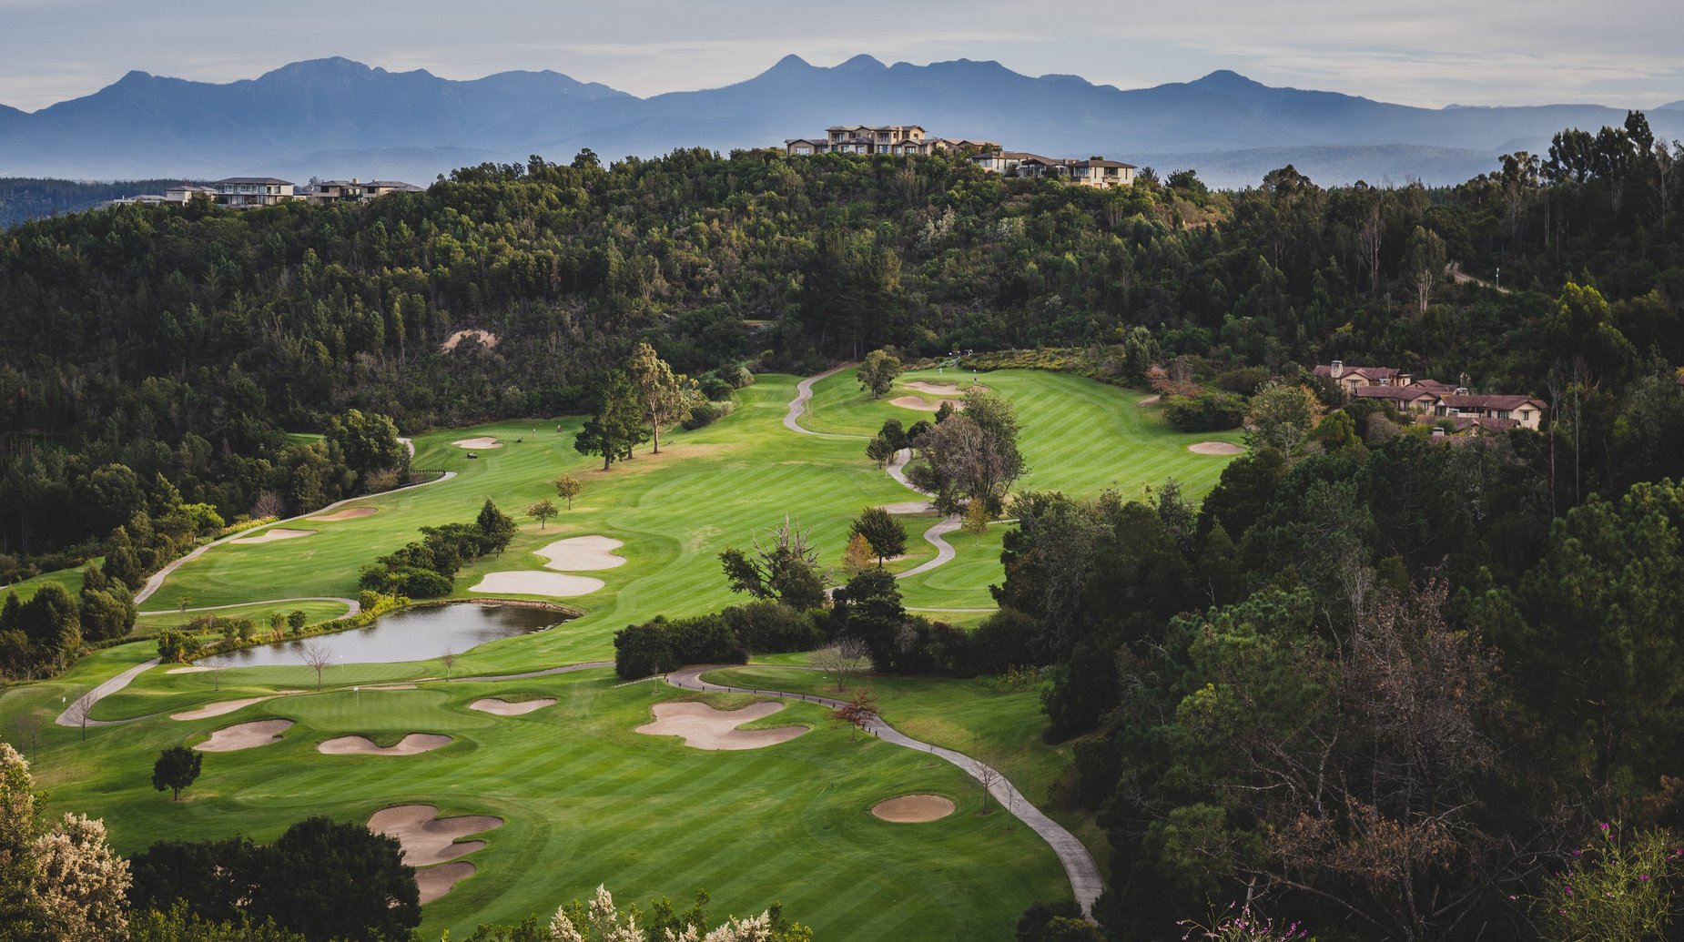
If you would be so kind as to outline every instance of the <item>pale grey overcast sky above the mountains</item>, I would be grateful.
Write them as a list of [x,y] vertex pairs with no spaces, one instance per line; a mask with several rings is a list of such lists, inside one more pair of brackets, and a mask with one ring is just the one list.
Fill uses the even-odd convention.
[[0,0],[0,103],[34,111],[130,69],[231,81],[325,56],[453,79],[556,69],[653,94],[788,52],[867,52],[1120,88],[1234,69],[1430,108],[1647,108],[1684,99],[1679,37],[1679,0]]

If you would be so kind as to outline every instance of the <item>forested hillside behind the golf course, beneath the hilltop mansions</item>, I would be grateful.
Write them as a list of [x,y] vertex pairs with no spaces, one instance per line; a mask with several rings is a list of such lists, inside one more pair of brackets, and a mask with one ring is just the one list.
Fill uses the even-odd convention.
[[[54,482],[108,463],[232,519],[264,492],[308,502],[337,468],[283,431],[347,409],[416,428],[583,411],[640,339],[697,377],[887,345],[1103,345],[1128,381],[1179,357],[1212,376],[1337,357],[1551,401],[1576,386],[1595,421],[1598,396],[1684,361],[1677,155],[1640,115],[1436,190],[581,153],[369,206],[37,219],[0,234],[0,553],[103,539],[123,517],[81,519]],[[1568,273],[1595,298],[1553,303]],[[1233,416],[1196,404],[1175,409],[1189,426]],[[1595,447],[1581,463],[1607,475]]]

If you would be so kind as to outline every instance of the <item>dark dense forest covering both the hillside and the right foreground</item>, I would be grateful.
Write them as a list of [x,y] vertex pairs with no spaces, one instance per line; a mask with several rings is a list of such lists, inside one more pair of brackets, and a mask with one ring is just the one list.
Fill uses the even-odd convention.
[[[391,485],[396,428],[594,409],[638,340],[714,384],[881,347],[1155,383],[1189,423],[1244,418],[1250,453],[1199,507],[1014,495],[970,639],[899,630],[871,571],[823,620],[682,632],[1044,669],[1111,939],[1228,902],[1324,940],[1569,939],[1603,918],[1575,881],[1642,922],[1671,897],[1610,875],[1684,881],[1681,160],[1633,113],[1450,189],[583,152],[355,207],[40,219],[0,234],[0,580]],[[1332,359],[1549,413],[1435,440],[1319,384]],[[626,650],[662,664],[682,632]]]

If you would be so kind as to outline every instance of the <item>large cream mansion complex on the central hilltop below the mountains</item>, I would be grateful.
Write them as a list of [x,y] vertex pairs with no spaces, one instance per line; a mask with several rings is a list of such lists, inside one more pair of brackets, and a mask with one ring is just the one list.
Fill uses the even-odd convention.
[[823,138],[790,138],[783,142],[790,157],[813,153],[889,153],[926,157],[938,152],[965,153],[970,162],[992,174],[1009,177],[1047,177],[1083,187],[1127,187],[1135,182],[1135,165],[1103,157],[1073,160],[1041,157],[1022,150],[1002,150],[999,142],[926,136],[919,125],[837,125]]

